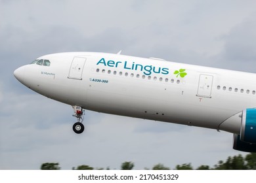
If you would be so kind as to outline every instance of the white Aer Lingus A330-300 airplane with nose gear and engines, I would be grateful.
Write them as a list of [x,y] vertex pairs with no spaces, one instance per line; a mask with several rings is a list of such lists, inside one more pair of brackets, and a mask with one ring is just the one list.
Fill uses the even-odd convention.
[[100,52],[41,56],[14,76],[71,105],[83,133],[85,110],[233,133],[233,148],[256,152],[256,74],[159,58]]

